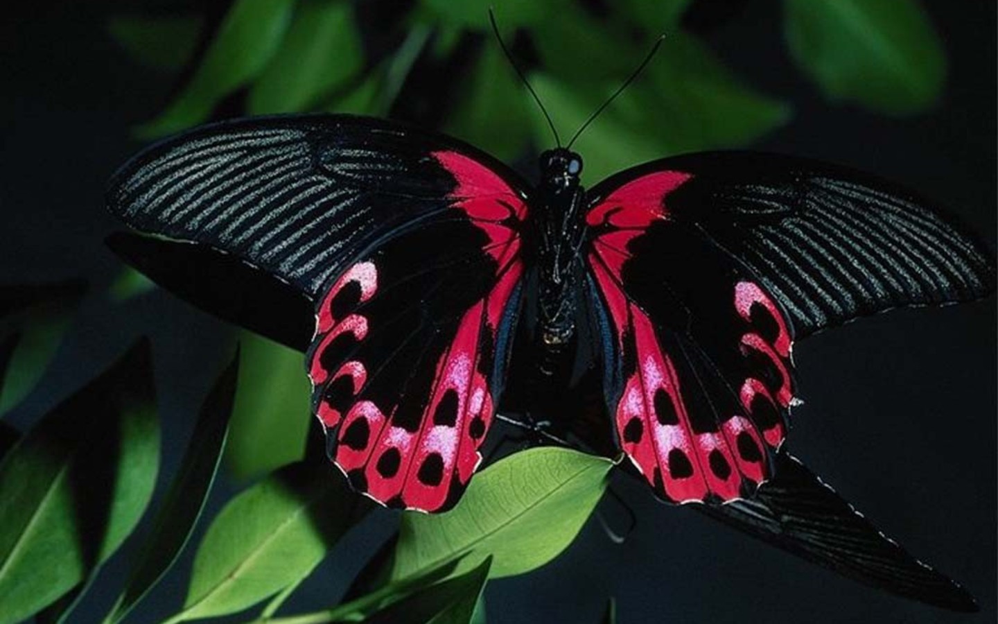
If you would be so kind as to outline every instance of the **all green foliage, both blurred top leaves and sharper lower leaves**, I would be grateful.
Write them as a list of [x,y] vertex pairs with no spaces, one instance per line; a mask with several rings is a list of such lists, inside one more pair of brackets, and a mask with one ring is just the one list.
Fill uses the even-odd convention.
[[[437,127],[524,162],[552,136],[491,38],[492,4],[417,0],[379,14],[377,3],[346,0],[234,0],[223,13],[185,4],[109,16],[107,32],[136,63],[176,76],[172,101],[137,129],[144,138],[235,114],[350,112]],[[686,29],[698,6],[495,3],[500,30],[563,141],[667,34],[645,74],[579,139],[588,181],[679,152],[749,145],[790,119],[785,102],[751,87]],[[790,57],[829,101],[916,114],[939,99],[945,58],[915,0],[782,6]],[[120,302],[149,288],[126,272],[111,295]],[[43,379],[82,293],[75,283],[0,288],[0,413]],[[326,462],[302,460],[310,418],[301,355],[247,332],[242,341],[155,505],[108,624],[128,621],[172,570],[223,457],[238,480],[257,480],[205,519],[184,572],[187,597],[171,622],[267,599],[259,621],[484,622],[486,580],[558,556],[606,487],[613,464],[604,458],[547,447],[513,454],[482,470],[453,510],[403,514],[397,539],[342,604],[279,615],[372,505]],[[151,361],[140,342],[23,435],[0,421],[0,622],[42,609],[39,621],[67,620],[146,513],[160,452]],[[613,600],[603,621],[615,621]]]

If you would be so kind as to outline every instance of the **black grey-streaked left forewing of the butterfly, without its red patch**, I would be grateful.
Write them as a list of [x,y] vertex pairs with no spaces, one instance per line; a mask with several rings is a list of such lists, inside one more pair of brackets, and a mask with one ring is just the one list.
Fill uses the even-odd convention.
[[107,191],[132,228],[231,254],[315,299],[387,232],[438,214],[453,176],[433,152],[466,154],[526,189],[502,163],[442,135],[349,115],[199,127],[126,163]]

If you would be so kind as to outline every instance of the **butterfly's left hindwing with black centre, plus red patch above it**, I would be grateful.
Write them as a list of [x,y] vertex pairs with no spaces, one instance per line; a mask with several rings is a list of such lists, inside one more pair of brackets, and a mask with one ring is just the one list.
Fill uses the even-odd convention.
[[333,461],[371,498],[423,511],[452,504],[481,460],[526,217],[484,165],[453,151],[430,158],[454,179],[442,211],[331,280],[307,354]]

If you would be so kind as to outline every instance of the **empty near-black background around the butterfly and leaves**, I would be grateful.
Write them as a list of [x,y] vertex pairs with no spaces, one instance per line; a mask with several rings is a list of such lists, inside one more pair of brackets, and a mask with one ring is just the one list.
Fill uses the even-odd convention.
[[[755,147],[900,182],[948,206],[994,249],[995,5],[926,6],[949,56],[949,82],[942,105],[913,118],[821,100],[786,56],[778,3],[749,3],[707,39],[751,84],[793,105],[792,121]],[[150,333],[169,476],[197,405],[231,352],[230,333],[166,293],[124,305],[106,295],[119,265],[102,240],[120,226],[104,211],[104,182],[140,147],[130,126],[161,110],[174,85],[127,60],[105,35],[100,7],[37,2],[8,12],[0,26],[0,281],[84,276],[92,284],[42,385],[11,419],[32,422],[136,335]],[[595,622],[610,596],[624,623],[995,621],[994,297],[863,319],[809,338],[794,354],[806,404],[794,412],[791,451],[888,535],[961,581],[981,613],[952,614],[867,589],[656,503],[641,484],[621,478],[639,517],[630,539],[614,545],[590,522],[550,565],[491,582],[489,621]],[[223,483],[215,504],[232,491]],[[292,607],[335,602],[345,574],[394,521],[389,512],[374,515]],[[102,573],[108,582],[98,581],[75,619],[103,616],[117,589],[110,580],[119,581],[134,546],[112,560]],[[188,553],[133,621],[179,607],[190,561]]]

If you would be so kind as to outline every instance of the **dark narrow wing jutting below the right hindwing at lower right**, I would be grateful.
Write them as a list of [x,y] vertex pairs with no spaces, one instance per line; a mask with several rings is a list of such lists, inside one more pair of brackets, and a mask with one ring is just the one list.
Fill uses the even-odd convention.
[[955,611],[977,611],[959,584],[909,555],[785,450],[749,500],[695,507],[861,583]]

